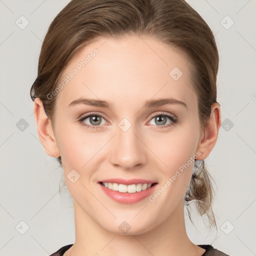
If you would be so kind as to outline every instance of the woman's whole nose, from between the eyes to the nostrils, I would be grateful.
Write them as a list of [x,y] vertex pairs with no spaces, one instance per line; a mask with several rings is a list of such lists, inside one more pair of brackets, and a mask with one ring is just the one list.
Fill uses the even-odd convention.
[[140,141],[139,132],[136,125],[125,118],[116,127],[116,136],[111,148],[110,160],[112,164],[117,164],[129,169],[145,161],[145,151],[143,143]]

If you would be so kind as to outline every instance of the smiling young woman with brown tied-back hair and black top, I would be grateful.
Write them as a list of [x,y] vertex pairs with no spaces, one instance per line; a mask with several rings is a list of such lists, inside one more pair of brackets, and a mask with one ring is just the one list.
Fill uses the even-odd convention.
[[227,255],[209,226],[204,159],[220,126],[214,36],[184,0],[71,0],[45,35],[31,87],[45,152],[73,197],[75,242],[53,255]]

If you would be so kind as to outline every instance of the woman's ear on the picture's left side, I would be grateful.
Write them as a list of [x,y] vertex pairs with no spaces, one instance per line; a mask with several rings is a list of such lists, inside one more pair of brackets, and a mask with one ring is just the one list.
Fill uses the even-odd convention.
[[44,151],[51,157],[60,156],[56,139],[51,127],[51,121],[46,116],[42,101],[36,97],[34,100],[34,117],[37,124],[37,132]]

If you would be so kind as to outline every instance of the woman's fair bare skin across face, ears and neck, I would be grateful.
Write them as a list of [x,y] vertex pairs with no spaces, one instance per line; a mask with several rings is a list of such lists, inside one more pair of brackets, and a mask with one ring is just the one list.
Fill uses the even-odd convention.
[[[73,197],[75,242],[64,255],[203,254],[205,250],[188,238],[184,222],[183,198],[193,164],[154,202],[146,197],[133,204],[118,203],[97,182],[114,177],[152,179],[158,182],[156,192],[197,151],[198,160],[209,155],[220,126],[219,105],[212,104],[210,119],[201,129],[187,58],[146,36],[99,38],[74,56],[63,77],[94,48],[99,50],[95,57],[56,95],[54,129],[41,100],[34,101],[40,141],[49,156],[61,155],[65,183]],[[175,66],[183,73],[176,81],[169,75]],[[113,108],[68,107],[79,97],[106,100]],[[145,100],[165,97],[181,100],[187,108],[181,104],[143,107]],[[90,111],[104,115],[96,124],[101,128],[87,128],[77,121]],[[162,111],[179,122],[159,128],[171,120],[166,117],[161,124],[150,114]],[[123,118],[131,124],[127,131],[118,126]],[[89,117],[83,122],[95,123]],[[80,174],[75,182],[67,178],[72,169]],[[125,234],[118,228],[123,221],[131,226]]]

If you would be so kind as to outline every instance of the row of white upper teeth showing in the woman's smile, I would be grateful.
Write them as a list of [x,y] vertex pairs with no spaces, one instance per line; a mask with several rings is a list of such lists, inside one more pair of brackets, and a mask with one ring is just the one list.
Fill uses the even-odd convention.
[[152,183],[139,183],[139,184],[131,184],[131,185],[124,185],[124,184],[117,184],[117,183],[110,183],[110,182],[102,182],[102,184],[109,188],[112,189],[114,191],[119,191],[119,192],[123,192],[123,193],[135,193],[135,192],[139,192],[141,190],[145,190],[147,188],[149,188]]

